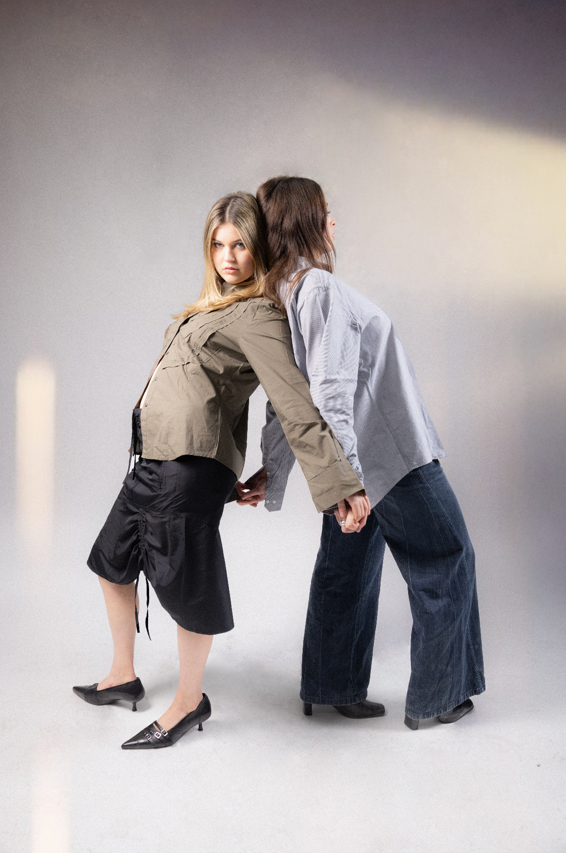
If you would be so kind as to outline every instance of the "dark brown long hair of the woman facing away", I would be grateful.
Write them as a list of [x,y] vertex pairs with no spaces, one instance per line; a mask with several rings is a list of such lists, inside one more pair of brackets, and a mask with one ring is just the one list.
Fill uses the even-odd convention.
[[[336,252],[326,232],[326,199],[320,183],[309,177],[280,175],[258,187],[257,203],[268,227],[269,272],[263,295],[285,311],[285,299],[306,270],[334,271]],[[300,258],[307,266],[293,275]]]

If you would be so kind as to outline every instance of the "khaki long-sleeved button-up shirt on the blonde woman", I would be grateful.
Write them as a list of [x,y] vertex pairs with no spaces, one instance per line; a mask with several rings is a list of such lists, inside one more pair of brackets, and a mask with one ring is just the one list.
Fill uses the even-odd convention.
[[289,324],[269,299],[176,320],[150,377],[158,364],[141,409],[143,458],[207,456],[240,477],[249,398],[261,382],[317,510],[362,488],[297,368]]

